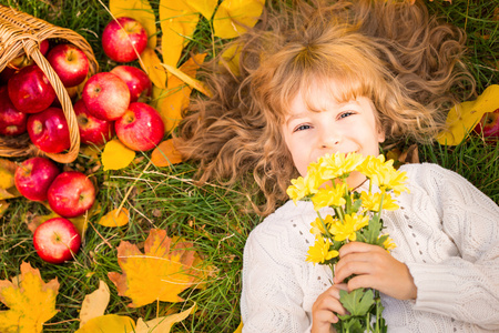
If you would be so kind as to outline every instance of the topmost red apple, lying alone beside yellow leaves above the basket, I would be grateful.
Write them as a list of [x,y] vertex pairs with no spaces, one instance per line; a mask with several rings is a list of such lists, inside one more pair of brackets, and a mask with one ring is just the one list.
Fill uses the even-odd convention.
[[118,62],[136,60],[146,46],[147,32],[132,18],[118,18],[109,22],[102,32],[104,53]]

